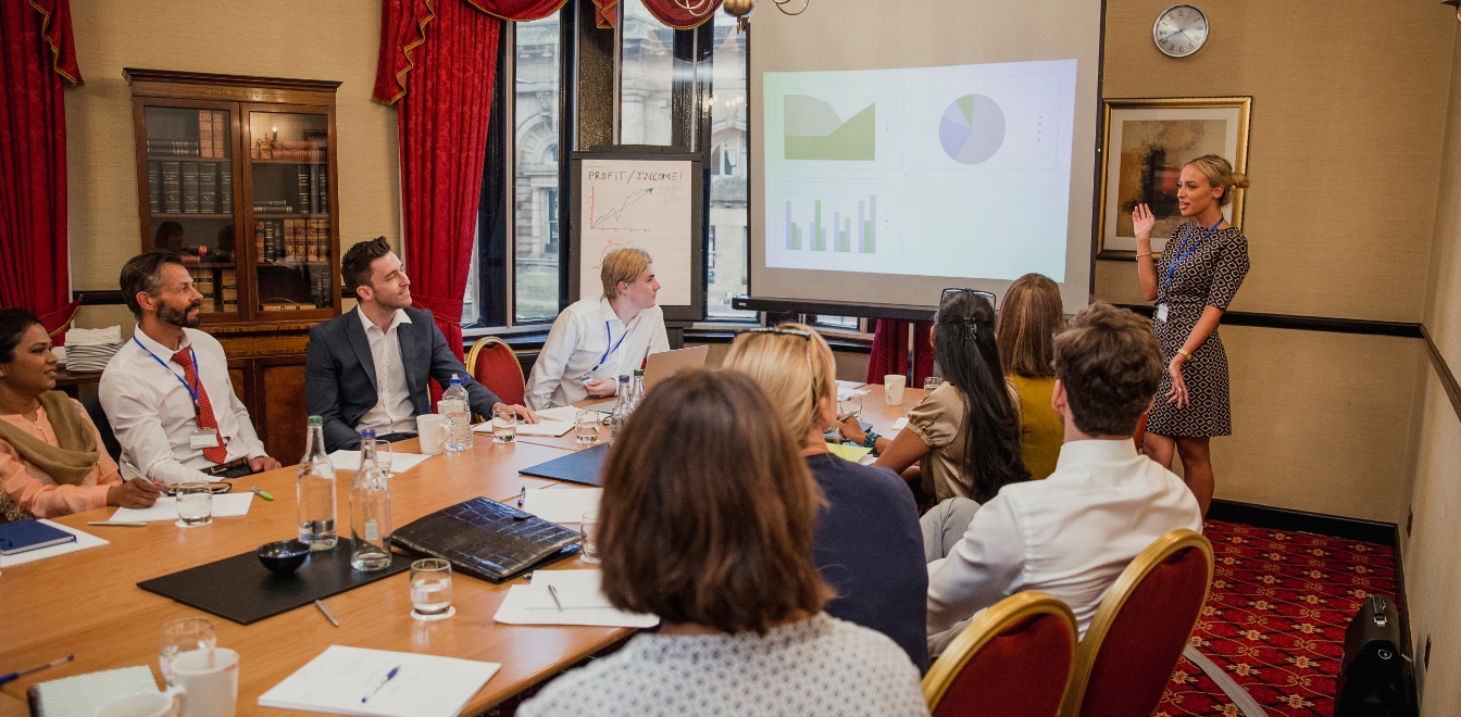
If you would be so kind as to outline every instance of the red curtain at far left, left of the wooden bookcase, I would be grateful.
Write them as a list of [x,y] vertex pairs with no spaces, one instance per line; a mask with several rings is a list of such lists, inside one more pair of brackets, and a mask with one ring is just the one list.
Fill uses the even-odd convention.
[[47,315],[70,305],[61,79],[82,82],[67,0],[0,3],[0,307]]

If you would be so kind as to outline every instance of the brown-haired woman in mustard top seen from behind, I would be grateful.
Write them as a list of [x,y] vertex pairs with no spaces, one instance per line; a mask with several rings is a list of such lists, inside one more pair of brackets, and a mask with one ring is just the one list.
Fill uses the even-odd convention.
[[1020,391],[1020,447],[1031,480],[1055,472],[1065,425],[1050,407],[1055,391],[1055,333],[1065,326],[1061,288],[1042,275],[1024,275],[1005,292],[995,340],[1005,378]]

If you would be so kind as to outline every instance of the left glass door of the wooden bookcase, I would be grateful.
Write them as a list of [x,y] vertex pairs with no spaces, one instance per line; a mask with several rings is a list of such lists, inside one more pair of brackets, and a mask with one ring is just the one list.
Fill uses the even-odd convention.
[[145,107],[148,241],[177,251],[203,313],[238,313],[232,112]]

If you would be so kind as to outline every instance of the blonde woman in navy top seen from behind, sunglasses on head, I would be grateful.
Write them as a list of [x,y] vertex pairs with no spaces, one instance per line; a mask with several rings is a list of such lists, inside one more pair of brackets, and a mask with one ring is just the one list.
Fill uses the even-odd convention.
[[837,593],[824,610],[877,629],[928,669],[928,571],[918,505],[897,473],[859,466],[827,450],[837,425],[836,359],[806,326],[742,331],[722,368],[749,375],[801,440],[802,457],[825,504],[817,515],[814,559]]

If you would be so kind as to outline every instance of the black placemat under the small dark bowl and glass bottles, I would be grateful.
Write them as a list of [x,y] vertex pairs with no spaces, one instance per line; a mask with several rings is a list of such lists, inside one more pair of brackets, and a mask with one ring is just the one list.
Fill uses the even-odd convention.
[[250,625],[264,618],[340,594],[380,578],[411,570],[412,558],[392,553],[386,570],[351,568],[351,542],[316,551],[300,570],[275,575],[253,551],[232,558],[137,583],[137,587],[183,605]]

